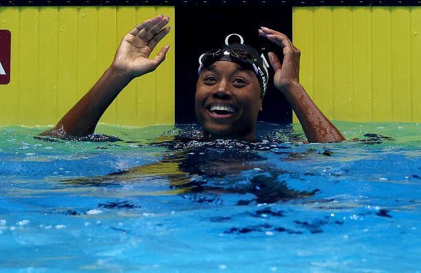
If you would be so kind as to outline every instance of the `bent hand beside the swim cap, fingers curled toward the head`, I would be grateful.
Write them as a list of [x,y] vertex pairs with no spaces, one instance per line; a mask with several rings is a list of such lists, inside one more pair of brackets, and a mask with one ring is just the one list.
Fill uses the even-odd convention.
[[275,72],[274,86],[283,93],[289,91],[291,85],[299,83],[300,50],[281,32],[262,27],[259,29],[259,34],[282,48],[282,63],[274,52],[269,52],[268,56]]

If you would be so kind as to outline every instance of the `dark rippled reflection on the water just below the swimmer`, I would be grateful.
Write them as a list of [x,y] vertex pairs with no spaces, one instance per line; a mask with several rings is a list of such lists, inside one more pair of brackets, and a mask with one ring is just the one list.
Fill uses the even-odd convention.
[[[96,177],[65,179],[63,182],[78,186],[109,186],[121,182],[149,183],[150,179],[164,179],[168,189],[164,194],[192,194],[198,202],[210,202],[222,197],[206,198],[202,195],[223,195],[228,193],[246,195],[254,198],[239,199],[238,205],[288,201],[313,196],[318,189],[311,191],[294,190],[288,187],[280,175],[287,171],[271,164],[262,152],[272,150],[283,154],[283,160],[299,160],[306,153],[283,152],[293,144],[285,144],[285,139],[302,140],[290,129],[280,131],[268,130],[263,140],[254,143],[239,140],[202,140],[201,133],[195,127],[184,127],[177,135],[160,136],[149,144],[138,144],[137,148],[164,147],[160,160],[153,164],[135,166],[123,171]],[[134,143],[133,141],[129,143]],[[309,150],[308,153],[314,153]],[[326,151],[327,155],[328,152]],[[330,154],[329,154],[330,155]],[[242,173],[247,173],[245,179]]]

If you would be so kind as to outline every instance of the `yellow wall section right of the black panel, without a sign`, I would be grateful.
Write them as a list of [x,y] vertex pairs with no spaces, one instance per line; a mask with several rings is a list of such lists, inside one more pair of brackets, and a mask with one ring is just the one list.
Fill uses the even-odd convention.
[[421,121],[420,9],[293,9],[294,44],[302,50],[301,83],[326,116]]

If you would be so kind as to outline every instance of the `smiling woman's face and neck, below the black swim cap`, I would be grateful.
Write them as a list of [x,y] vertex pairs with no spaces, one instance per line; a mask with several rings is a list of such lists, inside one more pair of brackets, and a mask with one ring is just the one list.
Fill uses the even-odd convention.
[[203,69],[196,85],[195,113],[205,137],[252,141],[261,109],[254,72],[228,61]]

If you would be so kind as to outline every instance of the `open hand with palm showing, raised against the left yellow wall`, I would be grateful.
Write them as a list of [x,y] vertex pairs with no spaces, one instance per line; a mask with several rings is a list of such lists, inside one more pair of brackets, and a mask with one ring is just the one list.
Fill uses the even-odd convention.
[[155,58],[149,58],[153,48],[169,33],[170,27],[164,28],[169,17],[162,15],[140,23],[126,34],[114,57],[111,67],[121,74],[136,78],[152,72],[165,59],[169,45],[163,47]]

